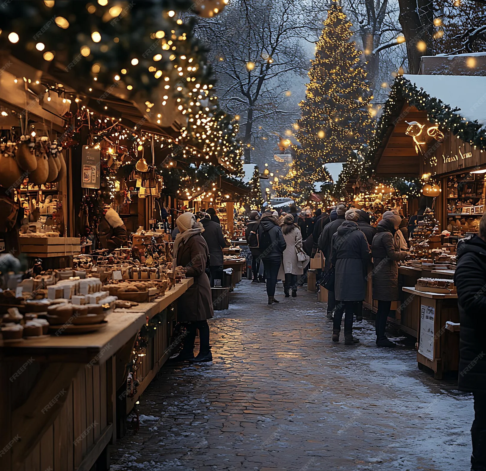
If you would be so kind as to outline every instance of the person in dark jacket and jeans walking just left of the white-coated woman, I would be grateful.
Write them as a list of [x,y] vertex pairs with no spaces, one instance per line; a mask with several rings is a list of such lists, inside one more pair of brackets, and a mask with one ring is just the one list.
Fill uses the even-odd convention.
[[273,304],[278,303],[275,299],[275,287],[277,285],[278,270],[282,263],[282,254],[287,244],[278,225],[278,219],[273,217],[272,213],[268,211],[261,216],[258,227],[260,257],[263,260],[267,277],[268,304]]

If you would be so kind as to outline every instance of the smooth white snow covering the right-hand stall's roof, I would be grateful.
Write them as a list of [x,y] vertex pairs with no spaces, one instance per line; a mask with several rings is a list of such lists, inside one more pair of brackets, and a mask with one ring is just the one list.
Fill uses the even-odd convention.
[[423,88],[429,95],[442,100],[446,105],[459,108],[457,114],[463,118],[486,124],[486,77],[408,74],[404,77],[415,84],[418,90]]

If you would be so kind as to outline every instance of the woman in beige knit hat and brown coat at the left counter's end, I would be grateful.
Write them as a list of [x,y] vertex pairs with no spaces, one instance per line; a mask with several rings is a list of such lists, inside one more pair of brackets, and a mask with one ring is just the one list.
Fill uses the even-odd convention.
[[[188,335],[184,339],[182,352],[175,361],[190,362],[212,361],[209,346],[208,319],[214,315],[211,287],[205,273],[209,250],[202,233],[204,228],[196,222],[192,213],[183,213],[176,220],[179,234],[174,242],[173,269],[182,266],[187,269],[186,276],[192,277],[193,284],[177,300],[177,321],[188,323]],[[175,262],[175,263],[174,263]],[[199,330],[199,354],[194,358],[194,340]]]

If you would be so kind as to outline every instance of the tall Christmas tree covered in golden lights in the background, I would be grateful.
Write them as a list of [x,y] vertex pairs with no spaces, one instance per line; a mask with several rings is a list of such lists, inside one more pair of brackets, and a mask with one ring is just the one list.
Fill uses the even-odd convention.
[[351,36],[351,23],[333,2],[311,61],[306,98],[299,104],[297,167],[321,169],[325,163],[346,162],[371,136],[368,107],[373,96]]

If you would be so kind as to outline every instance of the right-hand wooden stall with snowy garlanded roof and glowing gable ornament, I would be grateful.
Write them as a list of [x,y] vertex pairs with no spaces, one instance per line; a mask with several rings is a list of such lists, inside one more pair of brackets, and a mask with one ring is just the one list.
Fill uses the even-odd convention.
[[369,169],[377,181],[420,177],[428,185],[423,195],[430,197],[427,205],[433,210],[426,232],[431,235],[422,239],[427,239],[424,250],[430,255],[434,248],[433,256],[439,261],[399,268],[403,290],[389,320],[417,337],[419,364],[441,378],[458,367],[459,327],[445,330],[447,322],[459,322],[457,294],[453,290],[427,293],[415,287],[424,277],[442,285],[449,285],[447,279],[452,283],[453,264],[442,265],[440,260],[453,258],[457,241],[477,233],[485,212],[486,143],[481,126],[486,111],[478,106],[477,97],[479,90],[486,89],[486,77],[404,75],[393,88],[370,148]]

